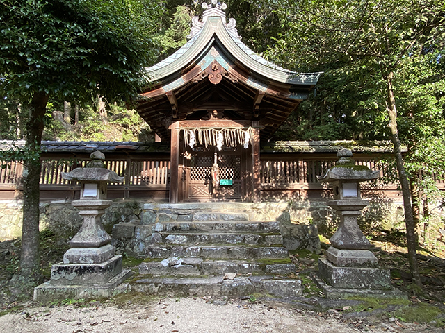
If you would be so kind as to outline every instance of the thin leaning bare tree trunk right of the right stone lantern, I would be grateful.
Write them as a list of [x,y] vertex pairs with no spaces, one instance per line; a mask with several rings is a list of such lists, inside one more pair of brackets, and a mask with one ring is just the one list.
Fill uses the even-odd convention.
[[403,163],[403,156],[401,151],[401,140],[398,137],[397,129],[397,109],[396,100],[394,99],[394,88],[392,85],[392,79],[394,74],[389,73],[386,77],[387,80],[387,112],[389,116],[389,128],[391,129],[391,141],[394,144],[394,157],[396,157],[398,178],[401,182],[403,207],[405,210],[405,226],[406,226],[406,240],[408,248],[408,260],[410,261],[410,271],[412,280],[419,287],[422,287],[422,282],[419,273],[419,266],[416,258],[416,232],[414,226],[414,220],[412,215],[412,203],[410,192],[410,181],[405,172],[405,165]]

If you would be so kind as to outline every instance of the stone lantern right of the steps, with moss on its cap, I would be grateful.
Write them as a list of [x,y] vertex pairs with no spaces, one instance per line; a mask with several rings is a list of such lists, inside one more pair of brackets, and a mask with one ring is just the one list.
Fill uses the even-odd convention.
[[369,250],[371,243],[357,224],[361,210],[369,205],[360,195],[360,182],[373,180],[380,171],[355,164],[353,153],[341,149],[339,161],[320,182],[333,186],[334,200],[327,203],[340,217],[340,225],[330,238],[332,246],[327,250],[327,259],[320,259],[318,273],[334,288],[385,289],[391,287],[389,271],[377,267],[377,258]]

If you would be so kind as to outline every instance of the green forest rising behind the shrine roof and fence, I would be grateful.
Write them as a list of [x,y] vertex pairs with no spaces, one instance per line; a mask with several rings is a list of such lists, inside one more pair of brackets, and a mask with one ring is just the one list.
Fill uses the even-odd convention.
[[[89,1],[94,6],[96,2]],[[202,8],[197,1],[143,2],[152,6],[133,15],[146,16],[145,29],[132,32],[147,40],[145,53],[139,56],[149,66],[186,42],[191,17],[200,15]],[[9,6],[15,1],[1,3]],[[97,5],[106,14],[105,9]],[[309,99],[271,140],[378,140],[394,146],[396,157],[401,157],[401,146],[407,149],[403,160],[394,162],[398,170],[394,179],[407,191],[405,214],[410,210],[412,215],[406,218],[412,221],[407,222],[407,239],[415,253],[415,228],[428,224],[429,203],[442,201],[435,178],[445,171],[445,4],[435,0],[230,0],[226,12],[236,19],[243,42],[264,58],[293,71],[324,72]],[[5,29],[1,32],[8,35]],[[7,53],[4,48],[1,53]],[[24,62],[32,58],[26,52],[18,56]],[[12,65],[5,62],[7,57],[0,58],[1,75],[6,78],[0,80],[0,139],[22,139],[33,101],[31,95],[17,94],[27,89],[27,83],[5,84],[12,77],[8,74]],[[66,98],[49,95],[42,139],[153,140],[148,126],[125,107],[128,96],[108,98],[113,89],[103,86],[99,92],[90,89],[79,96],[76,89]],[[416,280],[415,267],[413,271]]]

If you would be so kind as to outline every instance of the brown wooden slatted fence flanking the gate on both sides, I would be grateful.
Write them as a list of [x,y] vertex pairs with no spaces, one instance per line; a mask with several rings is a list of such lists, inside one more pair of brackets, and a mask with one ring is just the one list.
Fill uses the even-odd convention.
[[[261,191],[269,197],[280,196],[279,191],[295,193],[298,196],[307,196],[308,191],[320,191],[323,185],[318,182],[316,176],[326,173],[327,169],[337,162],[337,157],[318,159],[263,157],[260,167]],[[371,170],[380,170],[382,176],[380,183],[394,175],[394,170],[385,162],[379,160],[360,159],[355,157],[357,164],[366,165]],[[76,167],[84,167],[88,160],[43,160],[40,176],[41,197],[77,198],[79,185],[75,182],[63,180],[61,173],[70,172]],[[124,177],[122,184],[110,184],[108,195],[111,198],[168,198],[170,185],[170,161],[168,157],[146,159],[128,157],[127,159],[106,160],[106,168],[115,171]],[[0,199],[17,197],[20,191],[20,178],[22,176],[22,164],[19,162],[0,162]],[[445,189],[444,175],[436,176],[437,185]],[[364,185],[367,188],[366,185]],[[397,191],[396,185],[387,185],[389,191]],[[9,191],[9,192],[8,192]],[[304,193],[303,193],[304,192]],[[286,194],[286,195],[287,195]],[[314,192],[314,195],[317,195]],[[268,197],[264,196],[264,198]]]

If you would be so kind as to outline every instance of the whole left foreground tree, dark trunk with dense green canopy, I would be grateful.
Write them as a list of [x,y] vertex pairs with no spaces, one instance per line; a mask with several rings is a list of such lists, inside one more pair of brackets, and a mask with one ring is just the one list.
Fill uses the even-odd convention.
[[0,0],[2,85],[29,112],[26,153],[20,156],[24,208],[19,280],[38,275],[40,268],[40,142],[49,97],[85,101],[99,95],[131,101],[144,84],[143,67],[154,49],[150,35],[160,13],[154,0]]

